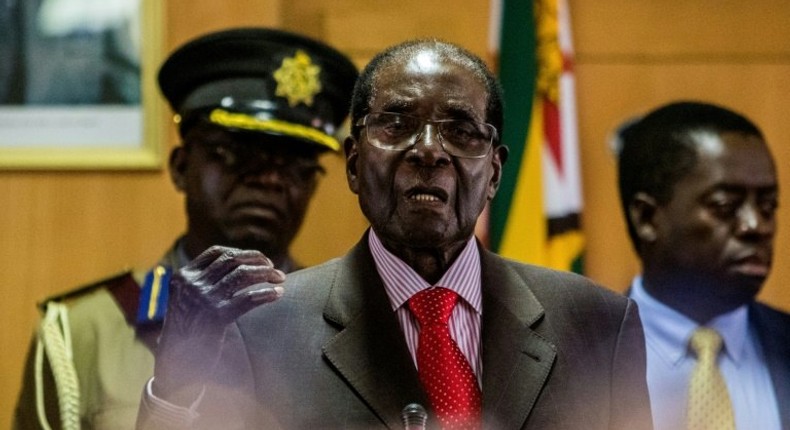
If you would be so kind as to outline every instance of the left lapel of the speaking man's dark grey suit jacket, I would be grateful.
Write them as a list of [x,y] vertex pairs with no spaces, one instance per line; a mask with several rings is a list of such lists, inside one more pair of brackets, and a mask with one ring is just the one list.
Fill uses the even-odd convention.
[[390,428],[401,428],[409,403],[428,406],[395,313],[367,246],[345,257],[332,282],[324,317],[340,327],[323,348],[341,378]]

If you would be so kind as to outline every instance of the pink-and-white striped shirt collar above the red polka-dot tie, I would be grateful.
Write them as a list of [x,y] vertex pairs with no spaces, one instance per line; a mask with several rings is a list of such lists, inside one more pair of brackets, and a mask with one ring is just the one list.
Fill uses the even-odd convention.
[[455,291],[478,313],[482,311],[480,253],[474,236],[469,238],[453,264],[434,285],[429,284],[408,264],[384,248],[372,228],[368,235],[368,245],[393,310],[403,306],[414,294],[433,286],[441,286]]

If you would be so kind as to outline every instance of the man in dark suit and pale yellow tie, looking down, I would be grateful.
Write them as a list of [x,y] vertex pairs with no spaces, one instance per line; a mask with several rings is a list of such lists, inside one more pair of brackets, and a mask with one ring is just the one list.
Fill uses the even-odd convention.
[[704,338],[721,344],[711,374],[723,382],[711,382],[722,422],[704,428],[790,428],[790,315],[755,301],[779,198],[762,133],[727,108],[675,102],[624,127],[620,145],[620,198],[643,269],[630,296],[645,328],[655,428],[711,423],[692,382],[705,369],[695,352]]

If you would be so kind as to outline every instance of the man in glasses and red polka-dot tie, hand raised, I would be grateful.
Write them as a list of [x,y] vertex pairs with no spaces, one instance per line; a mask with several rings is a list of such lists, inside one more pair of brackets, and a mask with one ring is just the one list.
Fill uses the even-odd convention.
[[[351,116],[348,183],[371,228],[287,280],[220,247],[175,274],[138,426],[401,428],[417,402],[431,427],[651,428],[633,303],[474,239],[508,153],[485,64],[439,41],[392,47]],[[437,303],[449,323],[428,321]]]

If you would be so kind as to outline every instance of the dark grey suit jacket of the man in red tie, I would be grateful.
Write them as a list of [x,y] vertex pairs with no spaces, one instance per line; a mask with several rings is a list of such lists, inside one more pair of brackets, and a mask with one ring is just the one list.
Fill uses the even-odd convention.
[[[486,429],[651,428],[632,301],[487,251],[481,261]],[[219,421],[206,428],[243,417],[246,428],[399,429],[406,404],[428,407],[367,238],[289,274],[284,296],[237,326],[243,354],[209,387],[203,418]],[[142,427],[166,427],[147,402],[141,411]]]

